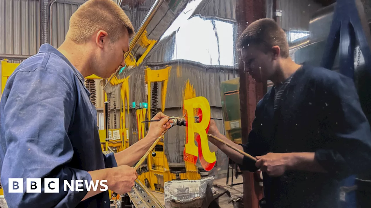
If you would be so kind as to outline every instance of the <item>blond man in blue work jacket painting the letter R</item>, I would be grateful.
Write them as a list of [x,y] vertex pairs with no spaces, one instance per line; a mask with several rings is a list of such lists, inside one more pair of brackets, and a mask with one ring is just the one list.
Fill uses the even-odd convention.
[[[75,187],[76,180],[107,180],[108,189],[129,192],[137,179],[132,168],[166,128],[162,113],[148,134],[131,147],[104,155],[96,109],[84,77],[109,78],[124,66],[134,28],[112,0],[88,0],[70,18],[63,44],[43,44],[9,77],[0,102],[0,170],[10,208],[109,208],[108,191]],[[23,179],[21,193],[8,192],[9,178]],[[38,193],[26,192],[27,178],[41,178]],[[59,178],[59,192],[45,193],[45,178]],[[64,181],[74,189],[65,191]],[[55,187],[54,187],[55,188]]]

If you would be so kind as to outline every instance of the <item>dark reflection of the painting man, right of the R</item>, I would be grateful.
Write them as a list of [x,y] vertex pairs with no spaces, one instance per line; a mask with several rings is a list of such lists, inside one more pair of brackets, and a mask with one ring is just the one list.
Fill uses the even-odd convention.
[[271,80],[274,87],[257,104],[247,144],[228,140],[214,121],[209,133],[257,162],[209,140],[241,170],[263,172],[262,207],[338,207],[339,182],[371,165],[370,124],[353,80],[294,63],[285,32],[271,19],[250,24],[239,47],[244,71],[258,82]]

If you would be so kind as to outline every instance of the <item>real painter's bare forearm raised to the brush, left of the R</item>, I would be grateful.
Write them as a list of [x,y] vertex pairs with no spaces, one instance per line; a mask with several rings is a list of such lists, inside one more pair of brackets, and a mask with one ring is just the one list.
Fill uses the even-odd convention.
[[133,166],[151,147],[156,138],[144,137],[124,151],[115,154],[117,165]]

